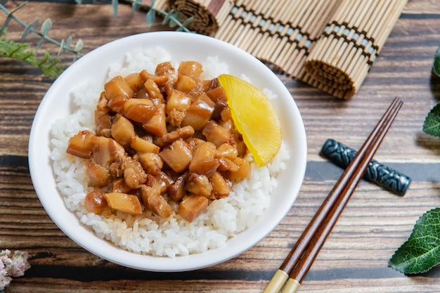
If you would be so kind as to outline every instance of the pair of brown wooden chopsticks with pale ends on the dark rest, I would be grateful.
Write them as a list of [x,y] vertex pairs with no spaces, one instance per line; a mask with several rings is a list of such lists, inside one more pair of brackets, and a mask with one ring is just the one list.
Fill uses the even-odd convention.
[[403,102],[399,98],[395,98],[389,105],[380,122],[347,166],[283,264],[273,275],[264,293],[278,293],[281,288],[283,288],[283,293],[297,292],[402,105]]

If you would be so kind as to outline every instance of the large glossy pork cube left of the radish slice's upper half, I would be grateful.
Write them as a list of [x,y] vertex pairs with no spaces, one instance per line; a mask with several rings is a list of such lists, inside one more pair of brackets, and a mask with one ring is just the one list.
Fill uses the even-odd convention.
[[191,103],[186,116],[182,121],[182,126],[193,126],[195,130],[201,130],[211,119],[214,112],[215,103],[204,93]]

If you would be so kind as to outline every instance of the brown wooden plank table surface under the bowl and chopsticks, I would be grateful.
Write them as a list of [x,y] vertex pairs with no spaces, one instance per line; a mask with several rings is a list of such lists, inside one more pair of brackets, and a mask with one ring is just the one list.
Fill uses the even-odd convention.
[[[51,37],[84,41],[86,53],[120,37],[169,30],[119,5],[30,1],[15,15],[25,22],[51,18]],[[20,3],[20,2],[18,2]],[[16,4],[8,3],[13,8]],[[1,23],[5,15],[0,15]],[[11,22],[8,36],[22,27]],[[38,38],[30,37],[36,44]],[[404,197],[362,181],[325,243],[300,292],[440,292],[440,267],[406,276],[388,267],[425,211],[440,207],[440,139],[422,133],[427,112],[440,100],[432,82],[440,45],[440,2],[410,0],[360,91],[338,100],[280,75],[295,98],[307,135],[308,165],[289,214],[244,254],[199,271],[151,273],[118,266],[86,252],[48,217],[32,187],[27,143],[34,113],[51,86],[25,63],[0,59],[0,249],[30,253],[32,268],[6,292],[262,292],[342,170],[319,155],[328,138],[359,148],[395,96],[404,105],[375,159],[413,179]],[[50,44],[44,48],[56,54]],[[64,63],[72,58],[61,56]]]

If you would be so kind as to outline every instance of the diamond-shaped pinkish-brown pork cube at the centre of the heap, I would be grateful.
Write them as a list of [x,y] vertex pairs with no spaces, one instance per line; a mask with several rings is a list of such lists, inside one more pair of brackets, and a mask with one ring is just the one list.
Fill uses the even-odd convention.
[[173,171],[180,173],[188,169],[193,152],[190,146],[183,140],[174,141],[159,152],[160,157]]

